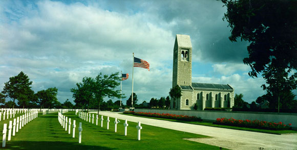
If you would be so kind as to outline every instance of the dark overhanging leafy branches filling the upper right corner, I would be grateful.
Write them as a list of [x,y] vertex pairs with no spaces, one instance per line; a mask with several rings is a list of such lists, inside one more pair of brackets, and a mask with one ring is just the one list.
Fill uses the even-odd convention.
[[297,1],[294,0],[222,0],[227,12],[223,19],[231,27],[231,41],[249,41],[249,75],[257,74],[269,64],[297,69]]

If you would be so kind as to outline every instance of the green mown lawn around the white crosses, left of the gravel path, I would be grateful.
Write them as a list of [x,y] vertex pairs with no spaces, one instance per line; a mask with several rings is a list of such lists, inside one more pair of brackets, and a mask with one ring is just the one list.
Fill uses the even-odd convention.
[[[76,120],[76,135],[72,138],[63,129],[57,113],[40,115],[24,126],[16,136],[7,141],[6,149],[219,149],[217,146],[184,140],[183,138],[205,138],[206,136],[185,133],[175,130],[146,126],[142,124],[141,140],[137,140],[137,123],[128,122],[128,135],[124,136],[123,120],[114,132],[114,118],[110,118],[110,129],[107,130],[107,117],[104,117],[103,128],[84,121],[73,112],[66,116]],[[82,122],[82,142],[78,143],[78,124]],[[100,121],[98,120],[98,125]],[[3,128],[3,121],[0,121]],[[3,129],[1,129],[3,130]]]

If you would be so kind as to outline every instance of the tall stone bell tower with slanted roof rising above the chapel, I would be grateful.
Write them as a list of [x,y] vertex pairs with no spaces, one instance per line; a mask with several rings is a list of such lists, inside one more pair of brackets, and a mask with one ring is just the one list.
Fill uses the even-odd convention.
[[172,78],[172,87],[192,86],[192,43],[188,35],[176,35]]

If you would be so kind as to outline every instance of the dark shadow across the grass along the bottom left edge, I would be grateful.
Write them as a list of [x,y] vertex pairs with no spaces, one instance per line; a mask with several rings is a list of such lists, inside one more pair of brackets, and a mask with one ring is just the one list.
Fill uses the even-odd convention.
[[110,147],[97,146],[97,145],[83,145],[83,143],[71,143],[71,142],[60,142],[60,141],[22,141],[22,142],[9,142],[6,144],[8,149],[114,149]]

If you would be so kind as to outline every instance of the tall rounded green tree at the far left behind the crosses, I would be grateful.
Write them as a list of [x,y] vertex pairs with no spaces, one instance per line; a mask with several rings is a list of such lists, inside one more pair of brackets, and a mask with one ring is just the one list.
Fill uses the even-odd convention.
[[[31,84],[32,81],[21,71],[17,76],[9,78],[9,81],[5,83],[2,93],[11,98],[13,104],[15,104],[15,100],[17,99],[25,107],[26,103],[30,101],[31,94],[34,93],[30,87]],[[14,108],[14,105],[12,108]]]

